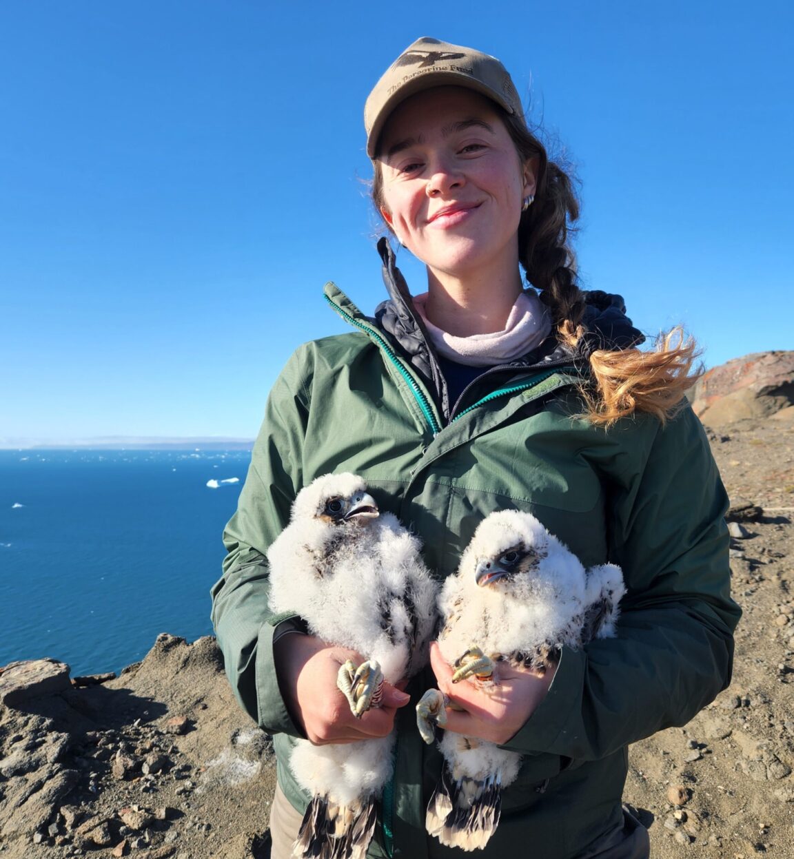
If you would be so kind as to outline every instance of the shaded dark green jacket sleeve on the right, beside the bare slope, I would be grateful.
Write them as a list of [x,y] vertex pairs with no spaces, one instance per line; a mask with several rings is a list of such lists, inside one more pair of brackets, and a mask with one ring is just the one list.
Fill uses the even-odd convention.
[[563,651],[547,697],[504,744],[512,751],[602,758],[686,724],[730,683],[741,612],[703,428],[687,408],[664,428],[638,418],[623,431],[632,454],[610,467],[608,504],[609,559],[627,588],[617,637]]

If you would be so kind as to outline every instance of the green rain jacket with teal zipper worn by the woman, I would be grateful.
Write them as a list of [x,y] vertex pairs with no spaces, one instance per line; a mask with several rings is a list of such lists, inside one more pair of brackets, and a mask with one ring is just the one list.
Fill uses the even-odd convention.
[[[392,291],[410,326],[404,284]],[[332,283],[326,298],[357,330],[290,358],[224,535],[213,622],[235,695],[275,735],[279,783],[302,812],[308,796],[287,765],[300,731],[272,655],[285,616],[267,606],[265,555],[318,475],[363,476],[379,506],[423,540],[439,578],[484,516],[528,510],[586,567],[620,564],[626,579],[618,636],[565,649],[547,697],[504,744],[525,758],[482,853],[571,859],[620,825],[628,744],[685,724],[730,681],[740,612],[729,594],[727,497],[703,429],[688,408],[664,427],[636,415],[595,428],[577,417],[575,362],[554,355],[489,375],[488,393],[486,377],[444,416],[412,356]],[[420,739],[413,704],[433,685],[428,669],[398,710],[394,779],[370,856],[458,855],[424,832],[442,758]]]

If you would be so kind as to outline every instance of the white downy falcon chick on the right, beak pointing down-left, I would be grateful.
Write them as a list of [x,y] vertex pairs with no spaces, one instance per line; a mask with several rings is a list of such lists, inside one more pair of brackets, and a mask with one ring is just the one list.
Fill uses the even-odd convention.
[[[499,663],[544,672],[566,645],[612,637],[625,593],[620,567],[585,570],[578,558],[533,515],[501,510],[487,516],[439,597],[438,644],[455,667],[453,682],[496,691]],[[470,678],[470,679],[469,679]],[[417,706],[425,742],[446,722],[447,701],[430,690]],[[447,731],[439,748],[445,765],[427,808],[427,831],[451,847],[485,847],[499,822],[501,791],[521,755],[487,740]]]

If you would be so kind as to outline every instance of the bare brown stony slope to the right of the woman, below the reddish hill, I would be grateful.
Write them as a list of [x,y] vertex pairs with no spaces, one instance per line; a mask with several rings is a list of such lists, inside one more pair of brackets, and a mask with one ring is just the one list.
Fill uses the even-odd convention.
[[632,746],[626,801],[654,856],[794,856],[794,421],[709,435],[734,509],[733,682],[685,728]]

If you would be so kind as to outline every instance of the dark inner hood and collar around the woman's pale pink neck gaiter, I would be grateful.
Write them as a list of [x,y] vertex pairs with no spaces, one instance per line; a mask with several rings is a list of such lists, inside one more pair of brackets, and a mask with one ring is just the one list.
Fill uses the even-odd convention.
[[[429,346],[430,338],[424,330],[421,317],[413,309],[411,293],[405,277],[396,265],[394,250],[388,239],[378,241],[378,253],[382,259],[383,283],[388,290],[388,299],[381,302],[375,311],[375,319],[384,332],[400,345],[412,364],[426,377],[434,379],[440,375],[437,362]],[[602,292],[600,289],[583,291],[586,304],[581,325],[585,329],[576,349],[562,344],[550,336],[544,344],[528,353],[520,361],[510,362],[511,367],[548,364],[557,361],[586,360],[598,349],[630,349],[644,343],[644,334],[632,325],[626,316],[626,302],[622,295]]]

